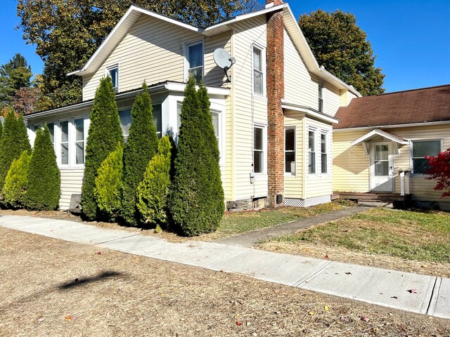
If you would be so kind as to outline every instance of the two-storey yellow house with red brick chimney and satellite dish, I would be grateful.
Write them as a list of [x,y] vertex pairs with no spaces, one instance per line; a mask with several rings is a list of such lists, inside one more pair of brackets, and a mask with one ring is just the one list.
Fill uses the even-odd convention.
[[[236,62],[223,69],[214,51]],[[25,117],[33,140],[46,123],[61,171],[60,208],[81,192],[89,112],[110,76],[125,138],[130,110],[145,80],[158,135],[176,139],[189,74],[211,99],[228,208],[310,206],[333,193],[333,124],[339,107],[361,95],[317,63],[288,4],[210,27],[193,27],[131,6],[82,69],[82,103]]]

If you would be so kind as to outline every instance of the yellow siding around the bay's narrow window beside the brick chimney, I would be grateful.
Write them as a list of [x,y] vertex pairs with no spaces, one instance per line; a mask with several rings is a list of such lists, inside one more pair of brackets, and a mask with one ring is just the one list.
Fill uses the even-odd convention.
[[304,114],[300,112],[285,112],[284,125],[295,128],[295,176],[285,174],[284,197],[303,199],[303,123]]

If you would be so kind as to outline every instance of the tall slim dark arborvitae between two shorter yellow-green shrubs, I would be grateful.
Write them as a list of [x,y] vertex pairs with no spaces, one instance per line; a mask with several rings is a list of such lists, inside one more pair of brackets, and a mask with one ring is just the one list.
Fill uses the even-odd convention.
[[138,225],[136,190],[146,171],[148,162],[158,149],[158,135],[153,125],[152,101],[147,85],[134,100],[131,109],[131,127],[124,147],[124,188],[122,219],[129,225]]

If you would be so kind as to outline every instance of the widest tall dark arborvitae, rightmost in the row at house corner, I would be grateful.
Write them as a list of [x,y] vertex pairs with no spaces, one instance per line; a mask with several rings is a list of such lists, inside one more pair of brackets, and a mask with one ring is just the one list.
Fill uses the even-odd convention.
[[169,197],[172,222],[188,236],[216,230],[224,213],[219,149],[209,106],[207,93],[197,93],[195,80],[190,77],[181,107],[174,183]]

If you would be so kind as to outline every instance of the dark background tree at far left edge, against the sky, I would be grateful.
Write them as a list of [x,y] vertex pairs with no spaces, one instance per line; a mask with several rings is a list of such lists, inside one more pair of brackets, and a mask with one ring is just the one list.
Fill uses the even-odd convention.
[[32,72],[27,60],[16,53],[9,62],[0,66],[0,108],[13,105],[20,88],[30,88]]

